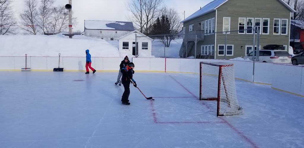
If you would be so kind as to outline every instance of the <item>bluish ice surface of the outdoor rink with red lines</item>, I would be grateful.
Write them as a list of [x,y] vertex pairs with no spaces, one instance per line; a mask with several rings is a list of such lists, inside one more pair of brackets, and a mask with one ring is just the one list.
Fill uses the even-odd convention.
[[304,147],[304,98],[236,79],[243,115],[217,117],[199,74],[0,71],[0,147]]

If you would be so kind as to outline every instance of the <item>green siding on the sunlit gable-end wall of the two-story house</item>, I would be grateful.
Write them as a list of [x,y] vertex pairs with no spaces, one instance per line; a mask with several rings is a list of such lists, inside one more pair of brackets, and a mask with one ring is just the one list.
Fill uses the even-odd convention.
[[[230,17],[230,31],[239,30],[239,18],[269,18],[269,34],[260,34],[260,47],[267,44],[282,44],[289,46],[290,10],[278,0],[229,0],[217,8],[216,32],[223,31],[223,17]],[[273,34],[274,19],[288,19],[287,35]],[[233,35],[232,35],[233,34]],[[233,44],[233,56],[226,59],[244,57],[246,49],[241,46],[253,45],[253,34],[227,34],[226,44]],[[250,42],[250,38],[252,39]],[[218,45],[223,44],[225,34],[216,34],[216,58],[223,59],[218,55]],[[288,49],[288,48],[287,48]]]

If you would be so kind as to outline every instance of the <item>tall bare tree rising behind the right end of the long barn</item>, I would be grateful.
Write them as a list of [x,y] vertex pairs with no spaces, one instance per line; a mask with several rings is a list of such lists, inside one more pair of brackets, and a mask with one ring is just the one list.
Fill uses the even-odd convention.
[[131,12],[127,19],[135,24],[141,33],[149,34],[152,24],[161,12],[163,0],[130,0],[127,10]]

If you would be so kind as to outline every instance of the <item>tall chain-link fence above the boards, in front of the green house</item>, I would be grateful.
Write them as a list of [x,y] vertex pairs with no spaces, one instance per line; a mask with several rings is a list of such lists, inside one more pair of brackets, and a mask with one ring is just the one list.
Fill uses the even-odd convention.
[[[185,34],[136,36],[136,57],[156,58],[244,58],[256,49],[257,34],[253,28],[227,32],[205,33],[194,30]],[[258,46],[260,49],[261,47]]]

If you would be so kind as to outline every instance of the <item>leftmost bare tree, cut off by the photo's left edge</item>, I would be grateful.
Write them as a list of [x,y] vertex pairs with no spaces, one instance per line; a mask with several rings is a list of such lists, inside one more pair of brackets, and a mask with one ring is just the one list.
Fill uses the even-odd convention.
[[11,0],[0,0],[0,35],[16,34],[17,22],[11,3]]

